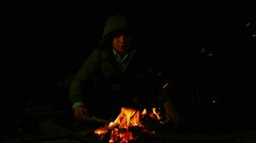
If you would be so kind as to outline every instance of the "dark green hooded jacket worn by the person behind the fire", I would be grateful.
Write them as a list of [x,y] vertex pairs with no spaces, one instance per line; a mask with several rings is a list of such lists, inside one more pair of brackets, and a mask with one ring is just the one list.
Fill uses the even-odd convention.
[[[111,102],[115,99],[130,103],[134,97],[142,97],[143,102],[152,102],[158,90],[157,69],[152,67],[149,60],[142,56],[137,49],[129,51],[127,64],[120,68],[114,57],[111,36],[116,31],[131,31],[127,19],[122,15],[111,16],[104,27],[101,40],[92,54],[74,77],[70,84],[71,104],[83,102]],[[88,91],[96,87],[96,93]],[[99,90],[100,89],[100,90]],[[100,93],[99,93],[100,92]],[[96,98],[91,98],[92,96]],[[95,101],[96,99],[96,101]],[[165,102],[168,98],[162,98]],[[94,101],[91,101],[94,100]],[[116,100],[116,102],[120,102]]]

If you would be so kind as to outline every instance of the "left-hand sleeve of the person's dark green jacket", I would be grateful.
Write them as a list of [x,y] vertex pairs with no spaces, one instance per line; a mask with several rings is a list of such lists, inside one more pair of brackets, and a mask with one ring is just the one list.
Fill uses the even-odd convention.
[[75,104],[76,102],[84,102],[83,99],[83,87],[84,84],[89,82],[91,78],[96,74],[97,69],[100,66],[100,53],[95,49],[92,54],[86,59],[81,69],[78,71],[70,84],[70,102]]

